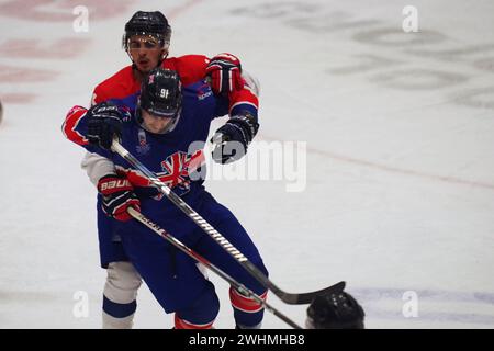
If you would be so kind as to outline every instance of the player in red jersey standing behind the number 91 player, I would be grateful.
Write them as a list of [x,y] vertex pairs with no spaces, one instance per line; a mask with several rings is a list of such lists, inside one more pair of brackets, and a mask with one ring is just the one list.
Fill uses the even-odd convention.
[[[246,83],[237,57],[220,54],[212,59],[202,55],[168,57],[171,27],[166,16],[159,12],[136,12],[125,24],[122,45],[132,60],[109,79],[98,84],[91,104],[103,101],[124,101],[127,106],[136,104],[136,93],[147,73],[161,66],[176,70],[183,86],[207,77],[215,94],[226,94],[229,101],[229,115],[243,105],[257,110],[257,87]],[[80,115],[77,109],[70,110],[64,124],[68,136],[77,133],[70,126]],[[68,123],[67,123],[68,122]],[[114,172],[114,165],[98,154],[87,152],[82,160],[91,182],[97,185],[102,177]],[[103,290],[103,328],[132,328],[136,310],[137,290],[142,279],[130,263],[117,236],[111,235],[111,222],[101,210],[98,199],[98,233],[101,265],[106,269]]]

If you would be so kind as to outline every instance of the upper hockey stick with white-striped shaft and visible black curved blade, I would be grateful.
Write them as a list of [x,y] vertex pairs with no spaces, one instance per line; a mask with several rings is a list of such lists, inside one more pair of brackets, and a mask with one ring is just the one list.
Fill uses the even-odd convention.
[[165,194],[177,207],[189,216],[202,230],[213,238],[226,252],[228,252],[238,263],[240,263],[259,283],[270,290],[282,302],[291,305],[310,304],[316,296],[340,292],[345,288],[345,282],[339,282],[328,287],[310,293],[287,293],[274,285],[269,278],[265,275],[252,262],[250,262],[237,248],[235,248],[223,235],[213,228],[199,213],[190,207],[179,195],[171,191],[159,178],[139,162],[131,152],[128,152],[117,140],[113,139],[112,150],[119,154],[123,159],[131,163],[135,169],[146,176],[151,184]]

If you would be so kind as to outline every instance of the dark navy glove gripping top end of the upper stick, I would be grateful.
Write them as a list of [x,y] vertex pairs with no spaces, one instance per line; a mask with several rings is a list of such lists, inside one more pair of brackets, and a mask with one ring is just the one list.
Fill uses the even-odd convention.
[[104,149],[110,149],[113,137],[119,138],[122,135],[122,112],[119,106],[101,102],[88,110],[86,114],[88,118],[89,144],[98,145]]

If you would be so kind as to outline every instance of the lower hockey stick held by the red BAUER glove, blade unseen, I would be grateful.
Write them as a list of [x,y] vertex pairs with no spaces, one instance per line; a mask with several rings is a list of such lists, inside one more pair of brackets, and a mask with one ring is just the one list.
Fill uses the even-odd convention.
[[134,210],[133,207],[128,207],[127,210],[128,214],[133,216],[135,219],[144,224],[146,227],[151,229],[154,233],[159,235],[161,238],[165,238],[168,242],[173,245],[176,248],[178,248],[180,251],[184,252],[187,256],[191,257],[199,263],[202,263],[205,268],[213,271],[221,278],[223,278],[225,281],[229,283],[234,288],[236,288],[240,294],[244,296],[250,297],[251,299],[256,301],[258,304],[262,305],[267,310],[272,313],[274,316],[287,322],[290,327],[295,329],[302,329],[301,326],[299,326],[296,322],[291,320],[289,317],[283,315],[281,312],[272,307],[270,304],[268,304],[265,299],[259,297],[256,293],[254,293],[251,290],[247,288],[245,285],[238,283],[236,280],[234,280],[232,276],[223,272],[221,269],[218,269],[216,265],[207,261],[204,257],[199,254],[198,252],[193,251],[191,248],[189,248],[187,245],[178,240],[176,237],[173,237],[171,234],[162,229],[160,226],[158,226],[156,223],[153,223],[150,219],[145,217],[141,212]]

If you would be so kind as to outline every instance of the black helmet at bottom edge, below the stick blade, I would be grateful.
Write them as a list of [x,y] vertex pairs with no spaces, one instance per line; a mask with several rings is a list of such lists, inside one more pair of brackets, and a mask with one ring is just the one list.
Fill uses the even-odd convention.
[[346,292],[317,296],[307,308],[311,329],[363,329],[362,306]]

